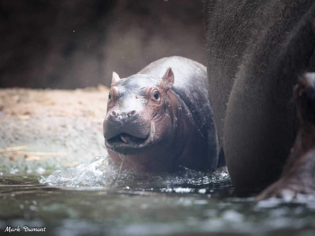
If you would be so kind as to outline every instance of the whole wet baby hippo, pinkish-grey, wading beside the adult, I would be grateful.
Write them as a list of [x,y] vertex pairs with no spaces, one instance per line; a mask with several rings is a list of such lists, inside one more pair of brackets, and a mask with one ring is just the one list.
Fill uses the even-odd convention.
[[103,128],[112,161],[119,165],[124,155],[123,169],[212,170],[218,163],[206,67],[184,57],[162,58],[128,78],[114,72]]

